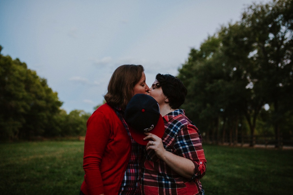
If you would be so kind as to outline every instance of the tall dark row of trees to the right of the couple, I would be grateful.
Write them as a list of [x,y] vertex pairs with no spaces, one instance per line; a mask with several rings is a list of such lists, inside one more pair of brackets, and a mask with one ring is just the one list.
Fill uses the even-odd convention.
[[293,133],[292,57],[293,1],[250,5],[179,68],[186,114],[214,143],[265,135],[280,147]]

